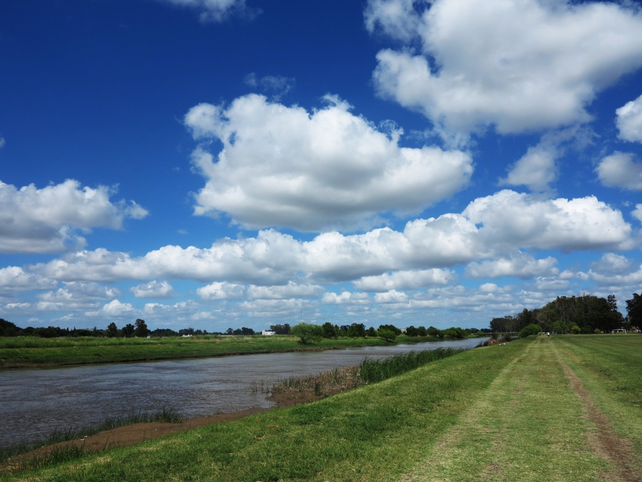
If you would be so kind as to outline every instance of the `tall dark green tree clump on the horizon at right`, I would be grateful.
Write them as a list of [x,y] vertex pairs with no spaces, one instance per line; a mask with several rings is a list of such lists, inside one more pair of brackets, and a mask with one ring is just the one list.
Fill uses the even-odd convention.
[[516,316],[493,318],[494,332],[520,332],[528,325],[539,325],[544,332],[600,333],[620,328],[627,330],[642,325],[642,296],[627,300],[627,317],[618,311],[615,295],[607,298],[582,294],[558,296],[542,308],[524,310]]

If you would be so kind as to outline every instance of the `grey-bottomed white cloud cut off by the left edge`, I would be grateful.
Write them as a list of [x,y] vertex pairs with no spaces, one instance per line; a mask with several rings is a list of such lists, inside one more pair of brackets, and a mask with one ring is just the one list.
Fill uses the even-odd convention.
[[20,189],[0,181],[0,253],[55,253],[82,247],[75,229],[123,228],[127,217],[148,213],[134,201],[112,203],[110,188],[82,187],[69,179],[61,184]]

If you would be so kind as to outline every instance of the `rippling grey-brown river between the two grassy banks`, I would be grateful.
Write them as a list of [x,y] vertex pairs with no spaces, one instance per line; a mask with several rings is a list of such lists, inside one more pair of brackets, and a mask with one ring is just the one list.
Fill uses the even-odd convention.
[[132,411],[165,407],[191,418],[269,408],[273,403],[265,394],[252,393],[252,380],[270,387],[290,377],[354,366],[365,356],[381,358],[440,346],[474,348],[483,340],[1,370],[0,447],[36,442],[56,429],[98,425]]

